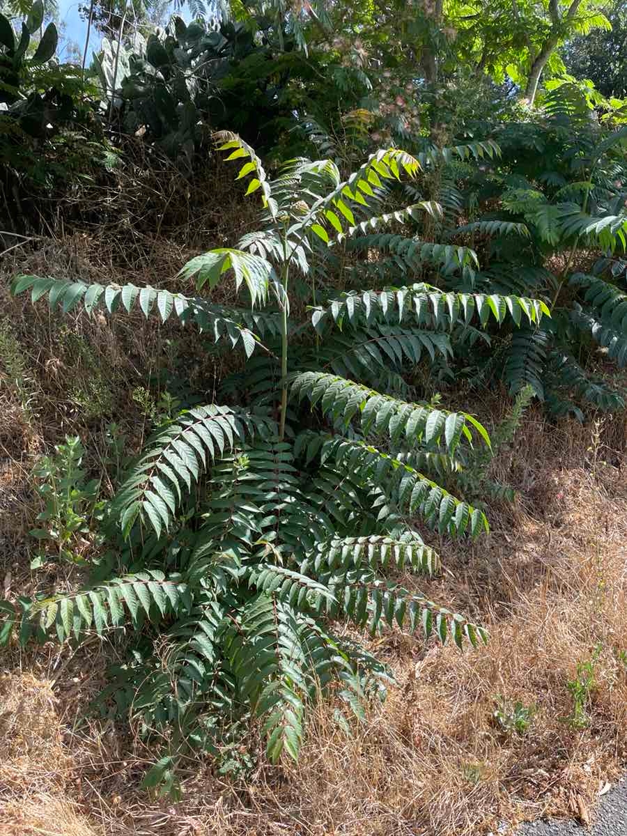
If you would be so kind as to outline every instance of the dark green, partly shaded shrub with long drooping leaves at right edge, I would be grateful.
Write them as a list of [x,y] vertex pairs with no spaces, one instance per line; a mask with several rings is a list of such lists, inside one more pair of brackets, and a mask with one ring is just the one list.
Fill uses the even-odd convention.
[[[553,415],[619,410],[624,397],[594,366],[627,364],[624,260],[627,129],[599,124],[575,84],[545,109],[495,126],[501,154],[481,168],[449,166],[457,196],[451,240],[480,243],[482,270],[450,286],[543,298],[551,319],[502,334],[468,364],[477,383],[531,385]],[[462,208],[463,207],[463,208]],[[469,222],[458,226],[465,211]],[[591,257],[592,256],[592,257]]]

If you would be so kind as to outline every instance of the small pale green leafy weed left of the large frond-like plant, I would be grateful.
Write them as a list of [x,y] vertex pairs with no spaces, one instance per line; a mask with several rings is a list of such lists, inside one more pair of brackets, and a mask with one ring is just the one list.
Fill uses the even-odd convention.
[[[66,436],[54,448],[54,455],[43,456],[35,467],[35,490],[44,503],[38,514],[38,528],[30,532],[40,543],[38,556],[31,563],[37,568],[51,556],[59,560],[82,560],[73,548],[79,534],[89,533],[99,480],[85,482],[81,468],[84,447],[78,436]],[[50,554],[50,548],[54,554]]]

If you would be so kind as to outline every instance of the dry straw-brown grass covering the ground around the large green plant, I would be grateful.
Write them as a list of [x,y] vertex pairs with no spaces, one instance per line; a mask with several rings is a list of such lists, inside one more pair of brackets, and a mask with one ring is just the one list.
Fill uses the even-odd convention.
[[[54,242],[27,253],[21,268],[157,283],[147,256],[134,262],[139,276],[131,278],[129,268],[120,279],[119,264],[99,260],[97,244],[69,237],[62,247]],[[141,244],[144,254],[147,246]],[[160,251],[161,276],[174,275],[184,249]],[[5,593],[28,594],[40,583],[28,569],[36,456],[79,430],[96,451],[95,464],[112,417],[139,443],[144,419],[130,390],[145,383],[150,357],[166,339],[193,358],[197,338],[141,324],[140,316],[113,324],[69,318],[62,326],[46,308],[33,312],[5,291],[0,303],[34,370],[34,418],[27,420],[10,385],[0,390],[0,584]],[[61,327],[67,330],[59,335]],[[98,347],[116,393],[110,412],[89,422],[66,381],[70,372],[72,380],[92,372],[84,358],[73,359],[68,334]],[[190,364],[194,388],[211,393],[223,373],[214,362]],[[498,420],[503,408],[497,399],[475,405],[487,421]],[[298,766],[259,767],[246,785],[216,777],[206,762],[190,767],[181,803],[150,800],[139,789],[150,752],[111,721],[84,719],[115,650],[94,640],[74,654],[53,645],[4,651],[0,833],[480,836],[502,820],[545,810],[585,820],[599,786],[618,774],[627,752],[626,441],[624,416],[595,432],[573,423],[550,426],[532,410],[496,466],[495,476],[517,487],[517,505],[493,509],[492,533],[472,546],[438,543],[446,570],[426,584],[432,597],[454,601],[487,625],[487,648],[462,654],[386,635],[377,651],[399,683],[388,700],[373,706],[351,737],[331,720],[333,706],[319,706]],[[74,578],[59,573],[50,582],[67,587]],[[578,730],[568,722],[568,681],[579,662],[593,657],[589,724]],[[526,735],[497,727],[497,695],[535,707]]]

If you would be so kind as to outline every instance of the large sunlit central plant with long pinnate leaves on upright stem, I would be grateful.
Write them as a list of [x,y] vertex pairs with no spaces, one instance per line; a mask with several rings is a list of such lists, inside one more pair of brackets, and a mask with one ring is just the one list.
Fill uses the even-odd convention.
[[[430,201],[393,208],[421,171],[405,151],[378,151],[347,181],[332,161],[307,160],[270,181],[245,142],[220,141],[263,212],[236,248],[182,268],[195,296],[35,276],[13,286],[64,313],[139,308],[146,318],[193,323],[247,356],[244,370],[222,381],[222,402],[173,415],[130,466],[104,524],[119,573],[71,596],[20,599],[13,618],[22,641],[44,640],[53,625],[74,641],[89,630],[135,631],[134,655],[107,694],[140,714],[146,734],[170,729],[149,782],[171,790],[186,747],[214,751],[244,717],[259,719],[276,761],[298,756],[320,691],[363,714],[389,674],[359,640],[334,630],[338,620],[372,634],[423,630],[460,647],[486,640],[482,627],[397,579],[439,565],[416,517],[456,538],[487,530],[485,514],[439,482],[471,446],[490,445],[485,428],[437,399],[415,399],[407,378],[451,358],[469,333],[537,327],[548,314],[544,303],[511,294],[356,285],[372,278],[359,253],[389,247],[380,230],[428,225],[441,212]],[[493,148],[477,144],[472,153]],[[436,266],[472,260],[414,235],[402,252]],[[339,262],[352,283],[344,291],[331,285]],[[202,295],[228,276],[247,290],[250,308]],[[299,296],[312,304],[296,304]]]

